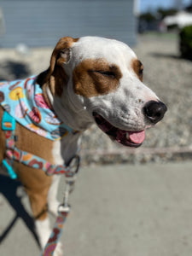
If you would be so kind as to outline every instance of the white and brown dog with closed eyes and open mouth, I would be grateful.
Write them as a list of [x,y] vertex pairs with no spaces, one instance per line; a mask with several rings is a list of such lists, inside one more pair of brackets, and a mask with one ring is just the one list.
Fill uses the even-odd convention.
[[[51,140],[26,129],[27,125],[16,119],[15,145],[56,165],[67,164],[73,158],[79,150],[82,132],[94,123],[114,142],[139,147],[145,130],[159,122],[167,110],[154,91],[143,84],[143,64],[137,55],[128,45],[114,39],[61,38],[53,50],[49,68],[31,79],[35,88],[39,86],[42,91],[46,108],[73,132]],[[28,82],[26,79],[25,83]],[[17,88],[17,84],[14,86]],[[0,102],[4,101],[4,91],[2,83]],[[22,98],[20,93],[19,97]],[[14,95],[12,99],[15,100]],[[5,105],[0,108],[1,119]],[[39,121],[37,111],[31,114],[33,123]],[[0,163],[5,151],[6,138],[0,127]],[[29,196],[39,242],[44,248],[50,234],[47,212],[57,214],[59,177],[46,176],[39,168],[16,160],[13,168]],[[60,254],[59,246],[55,255]]]

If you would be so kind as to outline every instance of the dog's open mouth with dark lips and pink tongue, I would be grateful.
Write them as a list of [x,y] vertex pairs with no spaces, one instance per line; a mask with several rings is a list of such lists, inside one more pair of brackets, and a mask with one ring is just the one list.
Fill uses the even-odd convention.
[[108,134],[113,141],[116,141],[127,147],[140,147],[145,138],[145,131],[125,131],[111,125],[100,114],[94,112],[93,117],[99,128]]

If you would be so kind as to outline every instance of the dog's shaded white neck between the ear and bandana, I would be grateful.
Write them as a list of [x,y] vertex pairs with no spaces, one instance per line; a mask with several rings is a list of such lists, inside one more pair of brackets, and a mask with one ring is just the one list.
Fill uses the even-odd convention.
[[[73,89],[71,89],[73,90]],[[84,106],[73,98],[69,86],[63,86],[61,96],[54,94],[49,86],[44,90],[44,96],[49,100],[59,119],[75,131],[84,131],[94,123]]]

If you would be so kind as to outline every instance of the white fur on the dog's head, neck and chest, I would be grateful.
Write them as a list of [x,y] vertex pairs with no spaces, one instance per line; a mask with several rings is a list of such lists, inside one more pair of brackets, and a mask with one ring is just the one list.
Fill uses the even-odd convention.
[[[127,131],[142,131],[150,124],[144,119],[143,106],[148,101],[158,101],[158,97],[143,82],[131,67],[131,61],[137,55],[126,44],[107,38],[84,37],[73,43],[70,51],[71,59],[63,63],[68,76],[68,84],[63,87],[62,96],[52,96],[48,91],[49,100],[55,113],[74,130],[84,131],[94,123],[92,113],[100,113],[103,118]],[[73,69],[85,59],[103,59],[108,64],[119,66],[122,78],[118,89],[102,96],[85,98],[73,91]],[[79,150],[80,134],[68,134],[61,141],[54,143],[53,155],[55,163],[67,163]],[[49,207],[56,212],[58,206],[56,194],[58,181],[53,182],[49,193]],[[51,195],[52,194],[52,195]],[[54,202],[55,201],[55,202]]]

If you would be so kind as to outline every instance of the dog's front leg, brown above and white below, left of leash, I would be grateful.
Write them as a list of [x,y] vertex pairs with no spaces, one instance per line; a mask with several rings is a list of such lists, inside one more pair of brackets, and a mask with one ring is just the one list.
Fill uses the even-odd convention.
[[[38,241],[44,249],[51,229],[48,218],[48,194],[52,177],[48,177],[42,170],[21,165],[15,162],[15,169],[20,169],[19,177],[23,183],[32,207],[33,217],[38,235]],[[54,256],[62,255],[61,245],[57,245]]]

